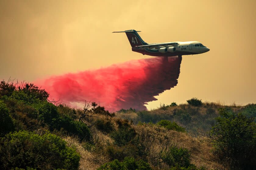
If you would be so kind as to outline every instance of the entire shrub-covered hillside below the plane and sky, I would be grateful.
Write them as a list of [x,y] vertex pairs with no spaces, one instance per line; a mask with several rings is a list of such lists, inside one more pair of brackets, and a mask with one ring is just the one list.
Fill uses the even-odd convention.
[[76,109],[48,97],[33,84],[0,83],[1,169],[196,170],[256,165],[256,104],[223,106],[193,98],[187,104],[173,102],[150,111],[110,113],[94,102]]

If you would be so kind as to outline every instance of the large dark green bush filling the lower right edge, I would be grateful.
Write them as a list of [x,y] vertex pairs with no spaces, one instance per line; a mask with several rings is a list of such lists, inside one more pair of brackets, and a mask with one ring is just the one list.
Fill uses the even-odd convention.
[[212,127],[215,153],[230,169],[256,167],[256,123],[241,113],[219,109],[220,116]]

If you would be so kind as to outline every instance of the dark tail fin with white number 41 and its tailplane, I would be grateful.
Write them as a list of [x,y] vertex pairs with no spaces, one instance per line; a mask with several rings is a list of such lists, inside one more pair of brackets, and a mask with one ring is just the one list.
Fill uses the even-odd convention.
[[134,29],[131,29],[131,30],[119,31],[119,32],[126,33],[126,36],[132,47],[148,45],[148,43],[144,42],[143,39],[139,36],[138,32],[141,32],[141,31],[136,31]]

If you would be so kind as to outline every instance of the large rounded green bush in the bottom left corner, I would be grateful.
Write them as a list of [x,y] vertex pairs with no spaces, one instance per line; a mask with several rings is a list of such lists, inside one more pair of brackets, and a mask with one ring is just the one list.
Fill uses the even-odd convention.
[[78,169],[80,155],[60,137],[28,131],[9,133],[1,140],[1,168]]

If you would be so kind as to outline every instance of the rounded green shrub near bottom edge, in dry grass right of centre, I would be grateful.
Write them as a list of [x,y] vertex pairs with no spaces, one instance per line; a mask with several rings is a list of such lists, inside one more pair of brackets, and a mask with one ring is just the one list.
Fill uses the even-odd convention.
[[190,153],[184,148],[170,147],[162,153],[161,157],[169,166],[188,167],[190,165]]

